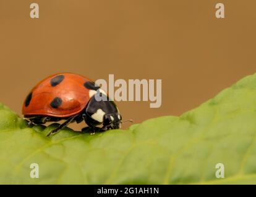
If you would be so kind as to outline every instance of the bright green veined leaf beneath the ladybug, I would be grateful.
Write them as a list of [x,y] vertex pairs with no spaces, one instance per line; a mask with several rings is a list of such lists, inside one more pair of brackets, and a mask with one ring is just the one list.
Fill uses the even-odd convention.
[[[256,74],[180,117],[46,137],[56,126],[28,128],[0,105],[0,184],[256,183]],[[215,177],[218,163],[224,179]]]

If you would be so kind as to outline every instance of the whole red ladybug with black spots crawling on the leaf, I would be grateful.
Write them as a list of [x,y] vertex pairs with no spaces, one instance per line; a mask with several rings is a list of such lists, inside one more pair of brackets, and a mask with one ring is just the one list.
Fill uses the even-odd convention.
[[54,74],[39,82],[25,99],[22,114],[30,125],[66,120],[47,136],[74,121],[85,121],[92,134],[100,124],[101,131],[107,131],[119,129],[122,123],[116,104],[105,91],[90,79],[72,73]]

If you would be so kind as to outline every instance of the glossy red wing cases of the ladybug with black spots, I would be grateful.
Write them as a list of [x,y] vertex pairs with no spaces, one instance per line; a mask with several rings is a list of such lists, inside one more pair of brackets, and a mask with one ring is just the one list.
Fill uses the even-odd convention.
[[[56,76],[64,76],[64,79],[54,84],[52,80]],[[32,95],[28,95],[30,98],[27,98],[23,103],[22,114],[25,116],[43,115],[61,118],[78,114],[90,100],[90,90],[84,86],[85,82],[88,81],[91,80],[72,73],[49,76],[32,89],[30,92]],[[54,98],[58,97],[61,97],[62,103],[58,108],[54,108],[50,104]],[[26,102],[28,102],[27,106]]]

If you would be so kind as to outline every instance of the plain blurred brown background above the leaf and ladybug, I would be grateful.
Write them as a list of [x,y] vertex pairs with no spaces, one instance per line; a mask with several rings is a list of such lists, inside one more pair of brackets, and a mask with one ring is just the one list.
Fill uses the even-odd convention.
[[161,107],[119,102],[124,119],[181,115],[256,71],[255,10],[254,0],[0,0],[0,101],[20,113],[50,74],[114,74],[163,80]]

